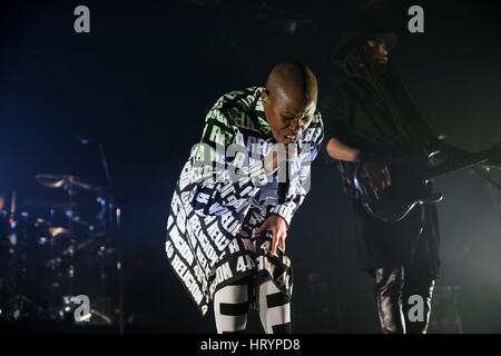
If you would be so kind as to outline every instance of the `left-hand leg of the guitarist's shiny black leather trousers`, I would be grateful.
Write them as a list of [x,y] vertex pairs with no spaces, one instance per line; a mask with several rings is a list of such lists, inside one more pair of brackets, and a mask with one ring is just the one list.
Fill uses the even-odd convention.
[[383,334],[404,334],[401,294],[403,267],[374,270],[375,296]]

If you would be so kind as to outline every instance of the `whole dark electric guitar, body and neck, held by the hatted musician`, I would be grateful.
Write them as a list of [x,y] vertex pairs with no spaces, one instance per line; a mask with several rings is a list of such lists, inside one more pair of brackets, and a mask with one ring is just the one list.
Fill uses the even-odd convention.
[[488,150],[460,155],[438,165],[433,164],[436,154],[433,152],[421,162],[387,165],[391,185],[384,190],[374,188],[364,164],[358,164],[353,172],[352,185],[367,214],[385,222],[396,222],[418,205],[441,201],[443,196],[430,192],[426,182],[461,169],[500,161],[501,142]]

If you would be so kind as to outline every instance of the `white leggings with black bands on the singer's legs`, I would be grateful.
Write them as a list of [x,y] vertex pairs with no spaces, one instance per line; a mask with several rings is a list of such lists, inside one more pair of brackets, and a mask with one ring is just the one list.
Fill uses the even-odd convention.
[[[244,278],[223,287],[214,296],[214,316],[218,334],[243,333],[247,325],[253,279]],[[291,333],[291,303],[268,280],[256,290],[261,324],[266,334]]]

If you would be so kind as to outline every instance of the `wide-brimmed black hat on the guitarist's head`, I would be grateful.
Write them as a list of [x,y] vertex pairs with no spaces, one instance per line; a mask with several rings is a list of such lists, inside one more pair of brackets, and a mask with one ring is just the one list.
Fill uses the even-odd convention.
[[396,44],[396,34],[382,29],[375,21],[358,22],[343,32],[341,42],[333,49],[333,61],[342,62],[353,47],[369,40],[384,41],[390,52]]

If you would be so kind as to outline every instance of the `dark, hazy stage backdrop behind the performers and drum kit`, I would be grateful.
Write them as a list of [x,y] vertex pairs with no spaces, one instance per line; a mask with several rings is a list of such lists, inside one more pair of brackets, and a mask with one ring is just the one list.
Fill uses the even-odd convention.
[[[37,174],[105,185],[102,142],[122,207],[126,332],[214,332],[164,251],[171,192],[205,113],[224,92],[264,85],[275,63],[291,60],[312,68],[322,99],[340,75],[332,47],[364,3],[400,34],[391,61],[436,135],[468,150],[499,141],[497,1],[85,1],[88,34],[73,31],[80,1],[6,1],[0,195],[16,190],[21,210],[43,215],[40,202],[63,194],[39,186]],[[424,33],[406,30],[412,4],[424,8]],[[375,333],[372,281],[357,271],[348,200],[325,157],[312,184],[287,240],[294,332]],[[501,190],[472,171],[436,188],[445,194],[442,274],[430,332],[501,333]],[[249,329],[261,330],[256,315]]]

